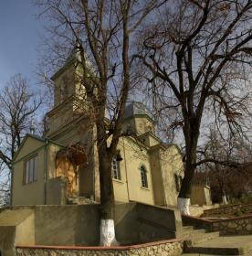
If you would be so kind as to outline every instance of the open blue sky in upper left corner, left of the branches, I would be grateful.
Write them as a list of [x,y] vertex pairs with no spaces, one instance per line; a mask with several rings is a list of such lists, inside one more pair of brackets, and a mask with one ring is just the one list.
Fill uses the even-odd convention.
[[36,83],[37,48],[42,22],[30,0],[0,1],[0,88],[16,73]]

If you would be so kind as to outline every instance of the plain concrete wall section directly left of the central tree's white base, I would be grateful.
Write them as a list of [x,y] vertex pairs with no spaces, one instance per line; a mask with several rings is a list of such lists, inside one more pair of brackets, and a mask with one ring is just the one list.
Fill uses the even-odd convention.
[[37,206],[36,244],[97,245],[99,242],[98,206]]

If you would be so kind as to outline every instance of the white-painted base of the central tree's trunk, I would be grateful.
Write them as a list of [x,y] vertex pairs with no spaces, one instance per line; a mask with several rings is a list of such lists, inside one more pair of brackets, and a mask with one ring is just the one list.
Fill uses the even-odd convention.
[[119,245],[115,237],[113,219],[100,219],[100,246]]

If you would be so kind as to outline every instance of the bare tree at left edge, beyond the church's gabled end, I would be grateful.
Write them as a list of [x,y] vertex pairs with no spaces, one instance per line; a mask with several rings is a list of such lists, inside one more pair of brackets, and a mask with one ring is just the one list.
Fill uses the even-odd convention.
[[0,165],[3,174],[0,190],[4,195],[9,192],[12,159],[22,139],[29,133],[41,102],[21,74],[12,77],[0,92]]

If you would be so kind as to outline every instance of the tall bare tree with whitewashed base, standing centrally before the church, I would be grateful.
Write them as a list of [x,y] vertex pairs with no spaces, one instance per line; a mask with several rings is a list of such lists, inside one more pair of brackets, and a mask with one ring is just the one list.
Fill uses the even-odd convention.
[[[159,1],[36,1],[53,20],[46,67],[60,67],[66,49],[79,51],[78,82],[85,90],[96,127],[100,170],[100,244],[116,244],[111,160],[121,136],[125,103],[137,82],[132,69],[132,37]],[[84,104],[84,102],[83,102]],[[106,118],[109,117],[108,119]]]

